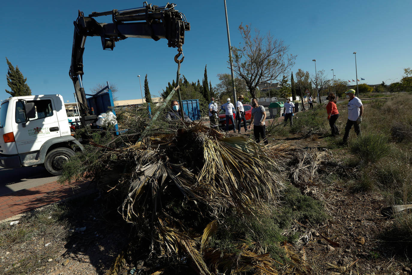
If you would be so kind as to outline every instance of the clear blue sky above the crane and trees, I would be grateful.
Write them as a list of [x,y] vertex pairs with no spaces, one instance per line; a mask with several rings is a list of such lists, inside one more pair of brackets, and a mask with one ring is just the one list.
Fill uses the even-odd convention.
[[[185,35],[185,60],[181,73],[189,81],[202,80],[207,64],[208,80],[218,83],[218,73],[227,68],[228,47],[223,0],[175,0],[191,24]],[[163,6],[166,2],[152,2]],[[0,99],[9,96],[5,57],[18,66],[27,78],[32,94],[62,94],[74,102],[73,82],[68,76],[73,43],[73,21],[77,10],[85,15],[112,9],[142,7],[131,0],[72,1],[7,1],[2,4],[0,45]],[[412,20],[410,0],[349,1],[245,1],[227,0],[232,46],[239,45],[237,27],[250,24],[261,34],[268,31],[289,45],[289,53],[297,55],[293,73],[301,68],[315,73],[325,70],[332,78],[356,80],[368,84],[387,84],[402,78],[403,68],[412,67]],[[101,16],[98,22],[111,21]],[[157,95],[168,82],[176,80],[175,48],[167,40],[128,38],[116,42],[113,51],[104,51],[98,37],[88,37],[84,51],[83,83],[87,92],[106,81],[115,84],[117,99],[137,99],[147,74],[150,93]],[[290,76],[290,73],[289,73]],[[397,79],[396,79],[397,78]]]

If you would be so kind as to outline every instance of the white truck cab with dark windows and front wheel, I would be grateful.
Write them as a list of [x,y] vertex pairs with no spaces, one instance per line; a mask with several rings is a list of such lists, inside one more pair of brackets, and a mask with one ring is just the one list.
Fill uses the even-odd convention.
[[44,164],[60,175],[63,163],[83,149],[71,136],[63,97],[59,94],[15,96],[0,106],[0,166]]

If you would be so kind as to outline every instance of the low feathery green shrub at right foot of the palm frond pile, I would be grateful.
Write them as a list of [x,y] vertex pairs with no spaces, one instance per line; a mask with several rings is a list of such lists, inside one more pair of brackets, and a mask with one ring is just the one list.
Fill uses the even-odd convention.
[[259,240],[261,247],[267,247],[270,256],[277,261],[285,261],[284,251],[279,244],[284,240],[294,242],[299,234],[285,234],[299,221],[303,224],[316,225],[326,221],[327,214],[323,204],[312,197],[303,195],[300,190],[289,185],[281,194],[281,207],[273,209],[271,214],[256,216],[227,212],[225,223],[211,238],[211,247],[220,248],[225,252],[235,253],[237,244],[244,242],[253,246],[253,241]]

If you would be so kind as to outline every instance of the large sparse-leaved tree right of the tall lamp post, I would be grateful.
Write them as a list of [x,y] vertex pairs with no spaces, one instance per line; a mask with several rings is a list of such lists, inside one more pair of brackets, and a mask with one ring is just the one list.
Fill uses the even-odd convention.
[[252,38],[250,26],[239,26],[243,39],[243,45],[239,48],[232,47],[233,69],[240,78],[245,80],[250,95],[256,97],[256,87],[265,81],[278,80],[279,75],[295,65],[296,56],[288,54],[289,46],[284,45],[283,40],[274,39],[269,33],[260,36],[255,29]]

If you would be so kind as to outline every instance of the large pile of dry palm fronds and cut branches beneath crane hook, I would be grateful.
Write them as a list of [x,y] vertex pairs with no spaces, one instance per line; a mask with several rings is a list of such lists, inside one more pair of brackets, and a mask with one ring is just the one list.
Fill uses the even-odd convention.
[[[125,259],[145,261],[147,274],[177,274],[183,269],[201,275],[309,272],[291,247],[284,249],[284,258],[290,260],[280,263],[267,252],[267,244],[248,234],[239,233],[232,249],[220,248],[215,236],[219,230],[231,230],[225,223],[228,213],[245,232],[250,221],[263,223],[262,217],[272,217],[285,182],[279,172],[303,150],[291,143],[261,147],[200,123],[164,120],[141,139],[144,127],[131,118],[129,113],[124,135],[96,134],[97,141],[73,158],[61,178],[89,176],[101,190],[124,197],[119,212],[135,225],[136,233],[107,274],[117,274]],[[148,122],[140,117],[140,123]],[[314,176],[321,156],[311,157],[311,169],[306,169],[305,160],[294,168],[295,183]]]

